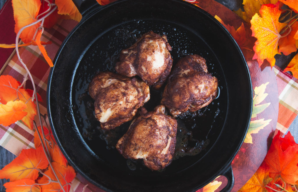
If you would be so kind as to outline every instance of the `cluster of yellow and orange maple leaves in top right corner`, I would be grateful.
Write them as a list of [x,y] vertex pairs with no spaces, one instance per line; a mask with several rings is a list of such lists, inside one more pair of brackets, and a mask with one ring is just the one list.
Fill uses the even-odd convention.
[[[253,59],[257,60],[259,66],[267,60],[273,67],[277,54],[297,52],[297,0],[244,0],[243,10],[239,9],[235,13],[251,26],[252,36],[256,38]],[[291,71],[298,78],[297,55],[285,68],[286,71]]]

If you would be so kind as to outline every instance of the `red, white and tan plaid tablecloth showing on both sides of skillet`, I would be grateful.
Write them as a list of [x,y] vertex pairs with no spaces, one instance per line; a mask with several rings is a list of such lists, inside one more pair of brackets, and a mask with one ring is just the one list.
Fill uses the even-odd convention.
[[[3,21],[5,17],[7,18],[7,11],[4,11],[4,9],[9,9],[9,7],[5,7],[10,6],[9,3],[11,4],[10,0],[7,1],[1,10],[0,21]],[[52,41],[52,44],[45,46],[50,58],[54,59],[55,54],[64,38],[76,24],[76,21],[62,20],[59,21],[58,24],[56,24],[53,28],[46,29],[44,31],[41,41]],[[7,25],[12,27],[14,24]],[[9,28],[7,25],[6,28]],[[15,34],[7,34],[6,32],[3,32],[3,30],[1,31],[1,43],[14,43],[11,42],[11,40],[14,41],[13,35]],[[6,42],[3,42],[4,40]],[[46,63],[44,57],[41,55],[41,52],[37,46],[21,47],[19,51],[21,58],[23,59],[24,63],[27,64],[27,67],[33,75],[37,92],[41,95],[44,101],[43,103],[40,103],[41,114],[46,114],[46,89],[50,67]],[[13,52],[13,50],[7,51],[6,49],[0,48],[0,56],[0,66],[3,65],[1,69],[1,75],[11,75],[21,82],[24,78],[24,75],[26,75],[26,71],[18,61],[18,57],[15,52]],[[298,80],[288,73],[283,73],[278,67],[273,67],[273,70],[276,74],[279,91],[277,130],[285,133],[298,113]],[[27,81],[26,88],[32,89],[30,80]],[[36,120],[36,122],[39,121]],[[30,130],[20,122],[7,127],[0,125],[0,145],[11,153],[18,155],[22,149],[34,147],[33,134],[34,131]],[[88,184],[88,188],[86,188],[85,191],[101,191],[94,185],[87,182],[80,175],[78,175],[77,178],[75,178],[75,180],[72,182],[75,191],[82,191],[86,184]]]

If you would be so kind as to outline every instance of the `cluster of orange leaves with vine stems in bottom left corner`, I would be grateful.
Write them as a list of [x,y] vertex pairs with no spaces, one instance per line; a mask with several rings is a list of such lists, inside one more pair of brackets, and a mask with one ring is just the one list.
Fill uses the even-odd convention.
[[44,126],[44,137],[41,135],[40,140],[38,133],[41,132],[41,127],[35,131],[35,149],[23,149],[18,157],[0,170],[1,179],[10,179],[4,184],[7,192],[70,191],[76,172],[68,165],[51,130]]

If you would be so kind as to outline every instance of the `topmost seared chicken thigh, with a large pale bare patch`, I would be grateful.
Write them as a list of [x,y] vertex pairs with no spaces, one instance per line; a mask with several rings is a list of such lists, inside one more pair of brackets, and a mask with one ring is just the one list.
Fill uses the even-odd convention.
[[149,86],[159,89],[170,74],[173,64],[171,50],[165,35],[150,31],[130,48],[120,52],[120,61],[115,69],[127,77],[138,75]]

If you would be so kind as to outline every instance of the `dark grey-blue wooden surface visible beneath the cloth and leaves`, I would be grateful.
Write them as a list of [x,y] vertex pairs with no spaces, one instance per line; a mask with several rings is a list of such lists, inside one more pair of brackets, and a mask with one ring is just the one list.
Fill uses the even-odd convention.
[[[0,10],[2,9],[4,3],[6,0],[0,0]],[[231,10],[238,10],[242,4],[242,0],[216,0],[223,4],[224,6],[228,7]],[[0,42],[1,43],[1,42]],[[279,66],[281,69],[284,69],[287,65],[287,63],[291,60],[292,57],[294,57],[295,54],[291,54],[290,56],[278,56],[276,65]],[[294,135],[296,142],[298,143],[298,118],[294,120],[294,122],[291,124],[289,130],[291,131],[291,134]],[[5,148],[0,146],[0,169],[2,169],[5,165],[10,163],[16,156],[9,151],[7,151]],[[5,191],[5,188],[3,187],[3,184],[7,182],[6,179],[0,179],[0,192]]]

